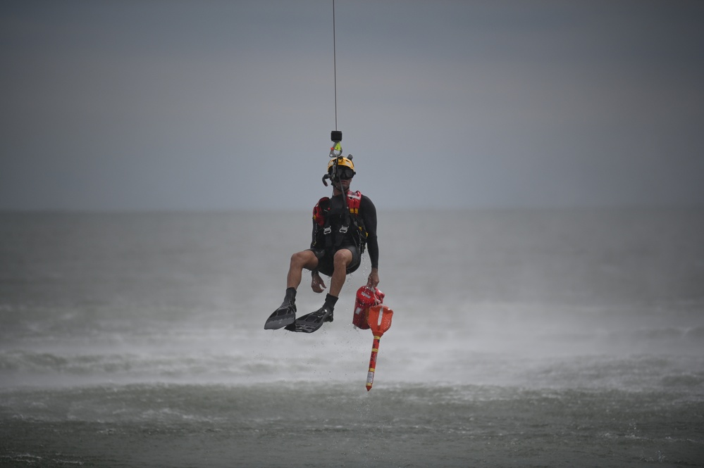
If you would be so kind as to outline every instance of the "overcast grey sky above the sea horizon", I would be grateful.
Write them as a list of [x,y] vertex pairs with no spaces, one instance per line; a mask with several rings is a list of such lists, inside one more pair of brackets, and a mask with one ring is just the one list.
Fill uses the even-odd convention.
[[[302,209],[332,0],[0,4],[0,209]],[[704,204],[704,2],[336,0],[378,208]]]

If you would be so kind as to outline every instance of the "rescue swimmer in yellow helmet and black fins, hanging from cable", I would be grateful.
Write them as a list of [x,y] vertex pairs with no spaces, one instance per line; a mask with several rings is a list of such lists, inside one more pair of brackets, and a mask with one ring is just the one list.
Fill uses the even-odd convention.
[[[374,290],[378,285],[376,207],[368,196],[350,190],[355,174],[352,155],[336,156],[328,163],[323,184],[327,186],[326,179],[331,180],[333,196],[321,198],[313,208],[311,246],[291,256],[283,303],[268,317],[264,329],[285,327],[290,331],[312,333],[324,322],[332,322],[345,278],[359,268],[365,248],[371,260],[367,286]],[[304,269],[311,271],[311,289],[316,293],[326,289],[320,274],[331,277],[330,291],[321,308],[296,320],[296,291]]]

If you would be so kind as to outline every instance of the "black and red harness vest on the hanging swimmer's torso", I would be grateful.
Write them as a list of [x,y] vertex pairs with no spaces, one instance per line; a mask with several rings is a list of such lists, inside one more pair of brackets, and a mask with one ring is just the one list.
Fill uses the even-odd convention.
[[[316,229],[313,234],[311,247],[338,248],[345,240],[351,240],[359,248],[359,253],[364,253],[367,232],[364,222],[359,217],[359,205],[362,203],[362,192],[347,192],[347,210],[340,216],[331,213],[331,200],[323,196],[313,208],[313,222]],[[339,222],[334,222],[339,220]]]

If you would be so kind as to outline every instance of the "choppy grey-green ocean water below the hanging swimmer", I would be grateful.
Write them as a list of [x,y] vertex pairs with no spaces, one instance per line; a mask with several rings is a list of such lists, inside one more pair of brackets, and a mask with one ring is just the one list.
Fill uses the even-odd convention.
[[379,215],[367,392],[366,255],[263,329],[307,212],[0,214],[0,464],[704,466],[704,210]]

